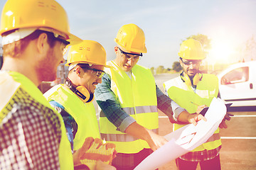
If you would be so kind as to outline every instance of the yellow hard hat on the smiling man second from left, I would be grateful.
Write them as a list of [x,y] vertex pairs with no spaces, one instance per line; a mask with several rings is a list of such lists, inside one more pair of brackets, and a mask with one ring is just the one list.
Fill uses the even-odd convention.
[[87,63],[103,65],[106,67],[106,51],[99,42],[83,40],[77,45],[72,45],[68,51],[68,61],[65,66],[73,63]]

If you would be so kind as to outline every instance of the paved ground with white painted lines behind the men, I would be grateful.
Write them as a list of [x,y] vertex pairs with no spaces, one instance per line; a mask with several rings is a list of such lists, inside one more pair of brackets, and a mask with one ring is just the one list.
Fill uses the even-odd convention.
[[[156,75],[156,84],[161,90],[162,84],[167,79],[178,74]],[[233,112],[233,117],[228,122],[228,129],[221,129],[223,148],[220,150],[220,162],[223,170],[251,170],[256,169],[256,111]],[[159,111],[159,116],[164,113]],[[172,130],[168,118],[159,118],[159,133],[166,135]],[[176,169],[174,161],[161,166],[159,170]],[[197,170],[200,167],[198,166]]]

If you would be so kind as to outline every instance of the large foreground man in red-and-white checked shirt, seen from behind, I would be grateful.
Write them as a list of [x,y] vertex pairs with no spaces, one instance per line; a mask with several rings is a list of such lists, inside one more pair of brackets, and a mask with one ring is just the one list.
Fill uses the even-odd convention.
[[0,34],[0,169],[73,169],[63,119],[37,88],[55,80],[65,46],[80,40],[65,10],[53,0],[9,0]]

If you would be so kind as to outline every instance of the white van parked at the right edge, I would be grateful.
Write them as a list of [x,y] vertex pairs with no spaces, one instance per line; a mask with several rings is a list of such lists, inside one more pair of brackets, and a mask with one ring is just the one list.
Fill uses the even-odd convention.
[[256,61],[232,64],[217,76],[220,97],[225,103],[256,111]]

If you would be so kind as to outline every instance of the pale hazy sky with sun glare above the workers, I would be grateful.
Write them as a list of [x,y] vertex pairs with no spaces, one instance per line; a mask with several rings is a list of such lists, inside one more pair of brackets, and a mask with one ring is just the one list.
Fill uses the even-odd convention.
[[[95,40],[113,60],[114,38],[123,25],[134,23],[146,36],[147,53],[138,64],[172,68],[183,40],[207,35],[213,52],[209,62],[229,62],[256,36],[255,0],[57,0],[68,13],[71,33]],[[6,0],[0,0],[2,10]],[[256,37],[255,37],[256,38]]]

